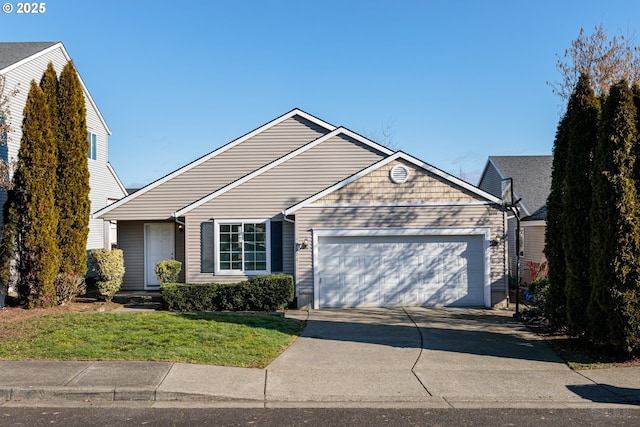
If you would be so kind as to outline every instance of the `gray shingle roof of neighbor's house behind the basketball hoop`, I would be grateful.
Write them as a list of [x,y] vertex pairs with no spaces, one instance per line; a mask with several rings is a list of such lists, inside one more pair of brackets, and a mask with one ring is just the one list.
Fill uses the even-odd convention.
[[547,204],[553,156],[489,156],[489,161],[503,178],[513,178],[513,191],[529,215]]

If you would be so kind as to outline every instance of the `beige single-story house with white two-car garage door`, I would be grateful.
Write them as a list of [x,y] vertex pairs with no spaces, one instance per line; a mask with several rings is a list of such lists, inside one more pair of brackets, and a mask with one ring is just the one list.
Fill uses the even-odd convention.
[[298,307],[506,301],[500,199],[300,110],[96,212],[118,221],[123,289],[295,278]]

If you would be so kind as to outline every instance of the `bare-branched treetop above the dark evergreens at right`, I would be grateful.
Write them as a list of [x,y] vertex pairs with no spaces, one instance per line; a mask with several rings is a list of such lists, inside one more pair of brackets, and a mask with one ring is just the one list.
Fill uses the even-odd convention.
[[609,39],[602,24],[592,34],[580,28],[578,38],[564,55],[556,54],[560,80],[547,84],[567,102],[583,72],[591,77],[596,96],[609,93],[611,86],[622,79],[640,83],[640,47],[634,42],[633,36],[623,34]]

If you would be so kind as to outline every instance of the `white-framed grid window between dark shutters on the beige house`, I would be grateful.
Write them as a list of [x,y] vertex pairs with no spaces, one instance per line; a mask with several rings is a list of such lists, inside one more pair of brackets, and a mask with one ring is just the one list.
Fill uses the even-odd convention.
[[268,272],[269,230],[269,221],[216,221],[217,272]]

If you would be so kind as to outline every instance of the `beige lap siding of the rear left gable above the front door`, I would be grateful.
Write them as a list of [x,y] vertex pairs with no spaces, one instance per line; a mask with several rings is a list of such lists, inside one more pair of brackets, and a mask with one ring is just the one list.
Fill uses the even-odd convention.
[[105,218],[166,219],[171,213],[327,133],[292,117],[115,208]]

